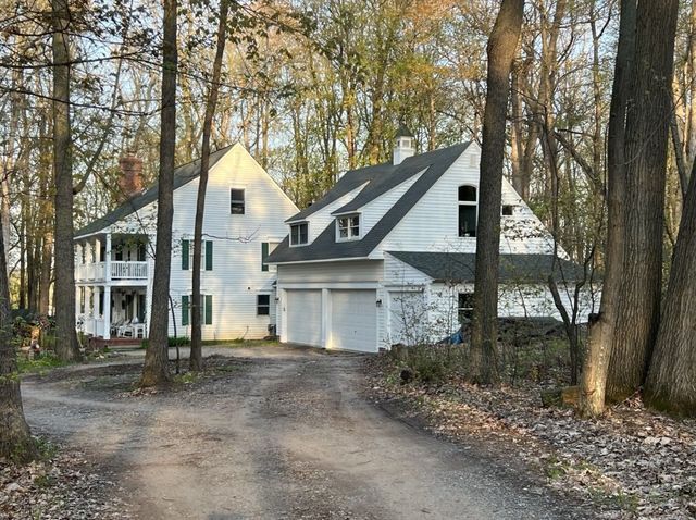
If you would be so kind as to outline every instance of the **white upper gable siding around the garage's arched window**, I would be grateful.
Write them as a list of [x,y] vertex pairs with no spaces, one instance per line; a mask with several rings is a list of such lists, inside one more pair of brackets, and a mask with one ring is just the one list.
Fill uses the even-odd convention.
[[[443,174],[435,185],[401,219],[371,257],[384,251],[475,252],[475,237],[460,237],[458,231],[461,185],[478,187],[480,148],[472,144]],[[504,181],[502,203],[514,205],[515,214],[502,219],[502,252],[549,252],[550,235]]]

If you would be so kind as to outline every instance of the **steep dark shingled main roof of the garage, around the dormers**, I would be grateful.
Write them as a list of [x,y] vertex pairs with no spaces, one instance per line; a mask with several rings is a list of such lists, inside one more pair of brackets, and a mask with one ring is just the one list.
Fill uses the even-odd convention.
[[[448,148],[409,157],[400,164],[384,163],[347,172],[341,179],[315,205],[300,211],[287,222],[302,220],[320,208],[326,207],[365,181],[369,184],[356,196],[353,201],[334,211],[332,214],[353,211],[374,200],[389,189],[418,173],[423,173],[401,198],[380,219],[370,232],[360,240],[336,242],[335,220],[323,230],[319,236],[307,246],[290,247],[289,237],[281,243],[269,256],[269,263],[300,262],[309,260],[330,260],[337,258],[364,258],[380,245],[385,236],[403,219],[413,206],[433,187],[437,179],[462,154],[470,143],[463,143]],[[348,181],[340,185],[341,181]],[[361,182],[359,183],[358,179]],[[350,184],[349,184],[350,183]],[[311,211],[308,211],[311,210]],[[300,216],[301,215],[301,216]],[[310,222],[311,225],[311,222]]]

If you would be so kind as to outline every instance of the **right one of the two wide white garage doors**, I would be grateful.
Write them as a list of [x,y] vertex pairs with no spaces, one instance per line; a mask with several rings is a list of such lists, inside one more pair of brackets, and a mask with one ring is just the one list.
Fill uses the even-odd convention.
[[331,292],[331,348],[377,351],[375,290]]

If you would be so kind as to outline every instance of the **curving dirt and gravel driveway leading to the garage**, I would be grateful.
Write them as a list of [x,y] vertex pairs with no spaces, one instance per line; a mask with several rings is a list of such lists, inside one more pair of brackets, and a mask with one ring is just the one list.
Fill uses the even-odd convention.
[[142,519],[589,518],[370,404],[361,356],[217,350],[224,376],[175,393],[124,396],[136,364],[29,380],[27,418],[115,472]]

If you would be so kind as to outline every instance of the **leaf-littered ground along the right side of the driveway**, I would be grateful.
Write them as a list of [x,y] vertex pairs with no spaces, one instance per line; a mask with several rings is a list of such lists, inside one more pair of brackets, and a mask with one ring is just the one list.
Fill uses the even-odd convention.
[[366,361],[375,403],[435,435],[484,453],[506,450],[546,476],[547,486],[588,499],[601,518],[696,518],[696,421],[646,410],[633,397],[601,420],[542,406],[539,385],[485,388],[452,376],[401,383],[389,355]]

